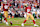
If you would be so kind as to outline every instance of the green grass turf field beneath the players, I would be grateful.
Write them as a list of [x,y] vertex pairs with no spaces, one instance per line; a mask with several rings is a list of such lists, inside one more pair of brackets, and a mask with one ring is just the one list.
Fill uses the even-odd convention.
[[[3,20],[3,19],[2,19]],[[8,26],[11,26],[10,25],[10,21],[12,21],[13,25],[12,26],[21,26],[21,24],[24,22],[25,18],[20,18],[20,17],[17,17],[17,18],[7,18],[8,20],[8,23],[9,25]],[[40,26],[40,19],[36,19],[36,24]],[[0,25],[2,26],[7,26],[5,23],[0,23]],[[25,26],[33,26],[33,21],[29,18],[29,20],[24,24]]]

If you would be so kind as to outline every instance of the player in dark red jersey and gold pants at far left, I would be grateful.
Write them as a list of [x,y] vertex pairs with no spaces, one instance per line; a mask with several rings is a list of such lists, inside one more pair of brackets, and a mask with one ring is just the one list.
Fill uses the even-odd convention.
[[8,5],[8,3],[7,3],[7,1],[5,0],[5,1],[3,1],[3,3],[2,3],[3,5],[2,5],[2,7],[1,7],[1,11],[2,11],[2,9],[3,9],[3,11],[4,11],[4,22],[6,22],[6,24],[8,25],[8,22],[7,22],[7,18],[8,18],[8,8],[9,8],[9,5]]

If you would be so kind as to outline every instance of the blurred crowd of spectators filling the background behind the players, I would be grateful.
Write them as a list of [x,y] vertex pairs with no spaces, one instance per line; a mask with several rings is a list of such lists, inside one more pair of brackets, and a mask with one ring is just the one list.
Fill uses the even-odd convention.
[[[31,6],[32,14],[40,11],[39,1],[33,0],[7,0],[9,4],[8,14],[14,17],[24,17],[25,7]],[[38,13],[39,14],[39,13]]]

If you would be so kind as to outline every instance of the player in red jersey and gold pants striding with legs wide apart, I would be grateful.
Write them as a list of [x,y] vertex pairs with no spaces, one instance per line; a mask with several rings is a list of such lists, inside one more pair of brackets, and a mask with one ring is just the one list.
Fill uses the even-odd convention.
[[35,24],[35,21],[34,21],[34,17],[33,15],[31,14],[31,6],[29,5],[28,7],[26,7],[26,19],[25,21],[21,24],[22,26],[24,26],[24,23],[28,20],[28,18],[30,17],[32,20],[33,20],[33,23],[34,23],[34,26],[38,26]]

